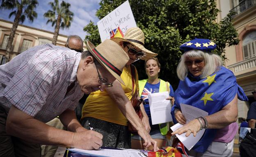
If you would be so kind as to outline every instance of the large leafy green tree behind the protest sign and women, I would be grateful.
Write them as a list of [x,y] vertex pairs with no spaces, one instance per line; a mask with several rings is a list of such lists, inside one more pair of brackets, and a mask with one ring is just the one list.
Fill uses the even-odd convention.
[[[126,0],[101,0],[96,16],[101,19]],[[131,0],[137,27],[145,34],[145,47],[158,53],[161,63],[160,78],[176,88],[176,67],[183,52],[179,46],[194,38],[208,38],[217,44],[214,53],[225,59],[226,46],[238,44],[238,33],[231,23],[229,13],[216,23],[219,10],[215,0]],[[90,22],[85,28],[86,40],[100,43],[97,26]],[[135,63],[139,79],[147,78],[144,61]]]

